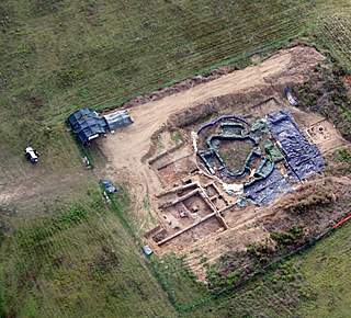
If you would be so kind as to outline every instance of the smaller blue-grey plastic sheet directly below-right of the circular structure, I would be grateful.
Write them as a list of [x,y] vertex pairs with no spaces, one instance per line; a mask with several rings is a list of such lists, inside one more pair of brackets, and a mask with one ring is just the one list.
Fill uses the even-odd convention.
[[245,196],[257,205],[268,205],[278,195],[288,191],[291,191],[290,183],[276,168],[267,178],[244,186]]

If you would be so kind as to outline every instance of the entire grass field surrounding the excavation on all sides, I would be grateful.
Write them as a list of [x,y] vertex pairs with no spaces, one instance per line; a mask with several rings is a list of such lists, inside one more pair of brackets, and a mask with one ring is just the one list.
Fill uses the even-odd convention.
[[[35,180],[42,195],[32,194],[30,205],[27,197],[0,205],[0,317],[349,317],[350,226],[235,294],[202,300],[208,293],[181,261],[143,257],[121,218],[125,197],[111,207],[91,188],[99,169],[82,170],[64,120],[80,106],[118,106],[220,65],[244,67],[253,53],[298,36],[351,69],[350,7],[1,1],[0,190],[20,183],[30,190]],[[39,169],[22,158],[29,143],[43,155]]]

